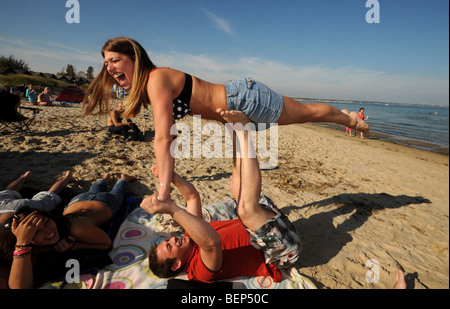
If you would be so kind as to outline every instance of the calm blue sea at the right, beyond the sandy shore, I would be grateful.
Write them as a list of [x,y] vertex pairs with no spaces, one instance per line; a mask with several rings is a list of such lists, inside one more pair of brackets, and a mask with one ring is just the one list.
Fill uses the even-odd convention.
[[[312,101],[302,101],[310,102]],[[338,109],[369,116],[371,132],[367,138],[380,139],[438,153],[449,153],[449,109],[436,106],[404,104],[326,102]],[[342,126],[323,124],[345,131]]]

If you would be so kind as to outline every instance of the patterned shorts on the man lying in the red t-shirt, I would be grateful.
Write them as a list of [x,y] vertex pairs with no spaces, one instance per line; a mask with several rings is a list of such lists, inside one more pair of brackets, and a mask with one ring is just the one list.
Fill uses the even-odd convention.
[[267,264],[275,264],[284,269],[294,266],[301,250],[301,240],[294,225],[268,197],[262,195],[259,203],[276,215],[257,230],[247,229],[251,237],[250,243],[264,252]]

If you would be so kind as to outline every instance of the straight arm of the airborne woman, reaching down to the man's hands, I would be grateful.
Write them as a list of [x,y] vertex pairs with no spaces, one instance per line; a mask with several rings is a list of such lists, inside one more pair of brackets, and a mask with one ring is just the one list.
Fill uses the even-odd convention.
[[[149,79],[147,92],[153,106],[155,118],[154,150],[158,168],[158,196],[161,200],[170,199],[170,184],[175,160],[170,153],[173,136],[170,129],[174,124],[172,84],[168,76],[154,72]],[[151,86],[150,86],[151,85]]]

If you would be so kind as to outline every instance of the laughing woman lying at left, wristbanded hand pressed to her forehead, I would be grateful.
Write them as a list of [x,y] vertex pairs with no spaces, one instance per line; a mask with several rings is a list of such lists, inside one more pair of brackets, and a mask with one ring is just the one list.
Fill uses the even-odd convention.
[[136,178],[122,174],[112,190],[105,192],[113,181],[111,174],[105,174],[87,193],[75,196],[62,216],[22,207],[3,224],[0,254],[3,268],[5,261],[10,263],[11,289],[34,287],[33,267],[47,251],[110,249],[112,241],[100,226],[119,212],[128,184]]

